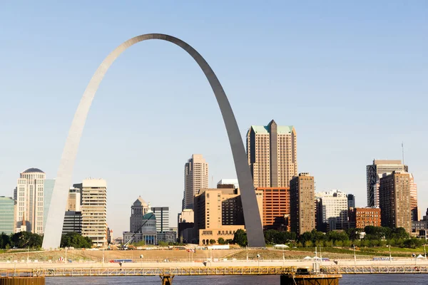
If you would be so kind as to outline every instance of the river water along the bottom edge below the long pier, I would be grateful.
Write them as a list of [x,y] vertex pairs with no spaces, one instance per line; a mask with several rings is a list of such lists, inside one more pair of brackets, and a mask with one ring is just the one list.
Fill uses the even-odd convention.
[[[111,276],[111,277],[48,277],[46,285],[161,285],[159,277],[143,276]],[[176,276],[173,285],[205,284],[205,285],[270,285],[280,284],[280,276]],[[340,285],[427,285],[427,274],[362,274],[343,275]]]

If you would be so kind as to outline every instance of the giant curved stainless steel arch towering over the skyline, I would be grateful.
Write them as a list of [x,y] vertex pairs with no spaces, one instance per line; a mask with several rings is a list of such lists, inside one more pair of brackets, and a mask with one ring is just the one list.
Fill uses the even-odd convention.
[[214,95],[217,99],[218,106],[220,107],[220,112],[223,116],[226,131],[228,133],[233,161],[235,162],[235,170],[238,176],[241,200],[243,204],[245,227],[247,229],[248,244],[250,247],[265,247],[265,237],[263,235],[262,223],[258,211],[258,203],[253,186],[253,177],[250,173],[250,167],[248,167],[247,155],[245,153],[238,124],[236,123],[235,115],[233,115],[233,110],[230,107],[225,91],[218,81],[217,76],[215,76],[214,71],[210,68],[205,59],[200,56],[198,51],[195,51],[195,49],[188,45],[188,43],[181,41],[179,38],[161,33],[148,33],[125,41],[110,53],[106,59],[104,59],[91,78],[74,115],[73,123],[71,124],[71,128],[68,132],[66,145],[63,149],[58,174],[56,175],[54,192],[52,193],[51,206],[49,207],[42,247],[44,249],[55,249],[60,246],[63,217],[66,209],[68,187],[71,185],[73,165],[76,160],[78,144],[81,140],[83,126],[85,125],[86,117],[98,86],[108,71],[108,68],[111,66],[113,61],[123,53],[123,51],[130,46],[133,46],[135,43],[151,39],[169,41],[170,43],[175,43],[175,45],[180,46],[180,48],[187,51],[196,63],[198,63],[208,79],[211,88],[213,88]]

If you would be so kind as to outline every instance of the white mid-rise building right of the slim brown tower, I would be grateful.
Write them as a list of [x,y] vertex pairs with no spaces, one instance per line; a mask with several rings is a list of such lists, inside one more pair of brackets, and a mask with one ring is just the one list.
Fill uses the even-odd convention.
[[317,192],[315,197],[320,199],[320,213],[318,221],[328,225],[328,229],[343,229],[347,222],[348,198],[340,190]]

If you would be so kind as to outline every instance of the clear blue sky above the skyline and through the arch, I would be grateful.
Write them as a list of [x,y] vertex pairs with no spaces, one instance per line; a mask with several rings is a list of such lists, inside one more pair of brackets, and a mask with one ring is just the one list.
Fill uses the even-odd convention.
[[[73,113],[108,53],[133,36],[168,33],[210,63],[243,137],[272,119],[295,126],[298,170],[315,176],[317,191],[354,193],[365,206],[365,165],[401,159],[404,141],[424,213],[427,1],[345,2],[0,4],[0,195],[12,194],[26,168],[56,176]],[[175,225],[192,153],[204,155],[214,183],[236,177],[203,73],[177,46],[146,41],[123,53],[101,83],[73,182],[107,180],[116,237],[128,230],[138,195],[170,206]]]

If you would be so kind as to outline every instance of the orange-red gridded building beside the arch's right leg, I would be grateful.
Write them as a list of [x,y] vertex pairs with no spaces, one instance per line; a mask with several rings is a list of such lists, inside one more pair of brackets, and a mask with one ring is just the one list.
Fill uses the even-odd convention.
[[290,188],[258,187],[263,192],[263,228],[290,230]]

